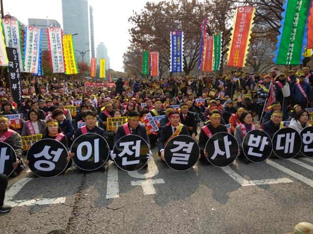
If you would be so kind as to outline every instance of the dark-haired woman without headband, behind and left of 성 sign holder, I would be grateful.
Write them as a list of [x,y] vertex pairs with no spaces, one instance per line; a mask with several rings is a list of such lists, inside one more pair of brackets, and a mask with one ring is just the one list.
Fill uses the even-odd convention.
[[45,134],[45,120],[40,119],[40,114],[36,110],[27,113],[27,120],[23,125],[22,136]]

